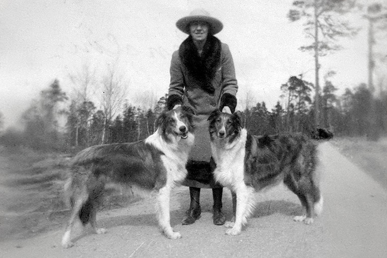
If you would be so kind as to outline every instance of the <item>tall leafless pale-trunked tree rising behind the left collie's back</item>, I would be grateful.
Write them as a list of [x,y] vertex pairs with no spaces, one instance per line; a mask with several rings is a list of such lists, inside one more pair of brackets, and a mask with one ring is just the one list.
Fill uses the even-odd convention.
[[106,141],[106,132],[109,124],[116,116],[125,99],[127,84],[123,80],[123,74],[117,69],[116,63],[108,65],[107,75],[102,80],[102,108],[105,113],[105,121],[101,142]]

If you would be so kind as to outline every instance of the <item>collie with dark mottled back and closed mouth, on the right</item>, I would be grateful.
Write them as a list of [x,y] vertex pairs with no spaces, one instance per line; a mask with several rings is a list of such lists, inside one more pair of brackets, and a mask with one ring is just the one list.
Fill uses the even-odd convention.
[[[254,208],[254,193],[280,182],[301,201],[305,214],[295,221],[313,222],[322,211],[316,174],[316,141],[302,134],[252,136],[241,126],[240,114],[214,111],[210,117],[215,179],[230,188],[234,217],[228,235],[237,235]],[[317,132],[318,133],[318,132]],[[236,195],[236,197],[235,197]],[[235,204],[236,202],[236,204]]]

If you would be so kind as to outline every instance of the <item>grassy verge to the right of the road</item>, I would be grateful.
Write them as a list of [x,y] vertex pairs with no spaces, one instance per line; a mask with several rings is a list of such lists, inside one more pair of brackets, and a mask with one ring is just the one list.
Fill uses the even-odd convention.
[[367,141],[360,137],[337,137],[331,143],[351,162],[387,189],[387,138]]

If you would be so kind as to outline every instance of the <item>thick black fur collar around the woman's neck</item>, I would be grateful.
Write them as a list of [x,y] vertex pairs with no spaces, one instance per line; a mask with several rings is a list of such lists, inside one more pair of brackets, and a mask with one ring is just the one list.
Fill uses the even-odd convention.
[[213,35],[208,35],[201,56],[191,36],[188,36],[179,47],[181,62],[198,81],[199,87],[210,94],[215,92],[211,82],[220,66],[221,50],[220,40]]

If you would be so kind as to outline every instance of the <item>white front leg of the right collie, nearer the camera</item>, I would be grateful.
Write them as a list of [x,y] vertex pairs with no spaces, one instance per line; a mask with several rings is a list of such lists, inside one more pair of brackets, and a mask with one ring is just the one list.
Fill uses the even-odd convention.
[[253,190],[249,189],[244,183],[238,187],[236,190],[236,213],[235,213],[235,223],[232,228],[226,231],[227,235],[237,235],[240,234],[242,226],[246,224],[247,217],[251,212],[252,205],[251,202]]

